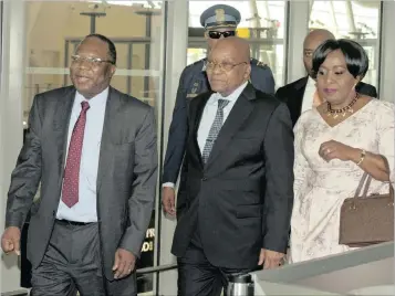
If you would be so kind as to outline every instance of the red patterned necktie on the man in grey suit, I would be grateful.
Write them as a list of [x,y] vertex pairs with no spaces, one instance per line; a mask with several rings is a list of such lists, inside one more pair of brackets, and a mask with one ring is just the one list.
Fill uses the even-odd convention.
[[81,103],[82,110],[71,135],[66,166],[64,170],[62,201],[72,208],[79,202],[80,165],[82,144],[84,142],[84,131],[86,124],[86,112],[90,108],[87,102]]

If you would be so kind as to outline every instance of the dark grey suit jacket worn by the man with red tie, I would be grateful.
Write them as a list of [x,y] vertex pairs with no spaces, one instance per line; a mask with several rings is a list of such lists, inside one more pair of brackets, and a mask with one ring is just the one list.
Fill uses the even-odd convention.
[[[75,88],[39,94],[30,128],[11,176],[6,226],[22,229],[31,209],[28,257],[37,268],[45,253],[61,195],[66,139]],[[117,247],[135,255],[149,223],[157,181],[156,125],[153,108],[110,87],[97,171],[100,237],[105,275],[113,278]]]

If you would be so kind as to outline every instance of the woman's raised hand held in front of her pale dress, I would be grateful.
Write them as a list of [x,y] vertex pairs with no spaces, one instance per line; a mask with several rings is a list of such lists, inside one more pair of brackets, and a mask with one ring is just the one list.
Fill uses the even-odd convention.
[[358,149],[340,141],[329,140],[321,144],[319,155],[329,162],[332,159],[340,159],[343,161],[352,160],[354,155],[361,155],[361,152],[358,152]]

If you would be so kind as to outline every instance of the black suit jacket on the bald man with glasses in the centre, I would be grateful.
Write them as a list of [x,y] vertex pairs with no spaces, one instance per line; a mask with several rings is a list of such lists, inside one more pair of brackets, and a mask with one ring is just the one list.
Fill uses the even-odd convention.
[[253,268],[262,247],[285,252],[293,204],[293,134],[287,106],[248,84],[207,163],[197,131],[211,93],[190,103],[187,172],[171,252],[180,257],[198,223],[215,266]]

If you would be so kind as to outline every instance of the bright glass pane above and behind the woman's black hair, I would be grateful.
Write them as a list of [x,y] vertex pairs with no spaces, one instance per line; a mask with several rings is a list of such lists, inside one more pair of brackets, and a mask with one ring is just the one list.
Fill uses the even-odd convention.
[[353,39],[366,50],[364,82],[378,86],[381,1],[313,1],[310,30],[324,28],[336,38]]

